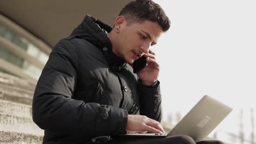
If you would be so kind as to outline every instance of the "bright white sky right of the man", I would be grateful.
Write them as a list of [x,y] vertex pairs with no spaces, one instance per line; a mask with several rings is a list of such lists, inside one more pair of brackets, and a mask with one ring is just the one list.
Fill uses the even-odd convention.
[[155,2],[171,20],[152,47],[161,67],[164,120],[177,111],[184,116],[207,94],[234,109],[217,129],[238,134],[243,109],[249,139],[251,107],[256,125],[256,1]]

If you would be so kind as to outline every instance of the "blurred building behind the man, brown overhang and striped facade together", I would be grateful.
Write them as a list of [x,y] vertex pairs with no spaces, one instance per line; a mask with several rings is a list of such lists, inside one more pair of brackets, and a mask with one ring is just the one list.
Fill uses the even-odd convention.
[[1,1],[0,71],[37,82],[54,45],[68,37],[86,14],[112,26],[128,2]]

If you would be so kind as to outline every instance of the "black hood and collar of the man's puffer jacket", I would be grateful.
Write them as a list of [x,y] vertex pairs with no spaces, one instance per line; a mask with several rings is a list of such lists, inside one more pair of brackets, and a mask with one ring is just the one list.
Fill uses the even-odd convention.
[[112,43],[107,37],[110,31],[112,31],[112,27],[90,15],[86,15],[80,25],[71,33],[71,36],[83,38],[94,44],[105,54],[110,68],[120,70],[126,62],[112,51]]

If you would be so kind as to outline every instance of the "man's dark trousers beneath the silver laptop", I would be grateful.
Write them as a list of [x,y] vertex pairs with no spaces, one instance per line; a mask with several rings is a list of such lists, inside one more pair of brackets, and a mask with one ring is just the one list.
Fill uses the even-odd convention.
[[222,141],[208,140],[195,142],[190,136],[179,135],[179,136],[168,136],[162,138],[129,138],[122,137],[114,139],[113,141],[107,142],[109,144],[223,144]]

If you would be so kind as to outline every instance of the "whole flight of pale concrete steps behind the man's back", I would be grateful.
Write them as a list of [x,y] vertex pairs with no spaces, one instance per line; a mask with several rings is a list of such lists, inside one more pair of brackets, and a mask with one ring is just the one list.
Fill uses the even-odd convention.
[[36,83],[0,73],[0,143],[42,143],[44,130],[32,120]]

